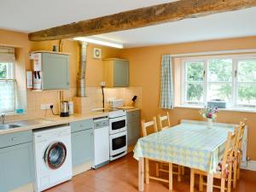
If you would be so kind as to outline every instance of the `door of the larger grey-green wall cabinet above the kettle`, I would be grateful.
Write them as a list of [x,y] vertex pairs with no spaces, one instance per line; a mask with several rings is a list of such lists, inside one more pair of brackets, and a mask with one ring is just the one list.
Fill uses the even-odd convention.
[[42,89],[68,90],[69,55],[42,53]]

